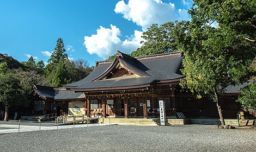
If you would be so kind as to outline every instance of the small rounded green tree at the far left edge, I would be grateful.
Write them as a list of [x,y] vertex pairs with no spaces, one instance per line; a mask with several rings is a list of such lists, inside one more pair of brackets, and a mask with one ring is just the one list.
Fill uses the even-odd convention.
[[4,121],[8,121],[8,109],[10,106],[24,105],[26,103],[20,80],[11,72],[0,75],[0,102],[5,105]]

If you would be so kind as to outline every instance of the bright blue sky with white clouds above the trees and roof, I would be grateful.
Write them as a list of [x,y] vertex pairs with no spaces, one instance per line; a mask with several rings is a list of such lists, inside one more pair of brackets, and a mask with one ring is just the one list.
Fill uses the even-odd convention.
[[62,38],[70,60],[105,60],[131,53],[153,23],[189,20],[190,0],[0,1],[0,53],[47,62]]

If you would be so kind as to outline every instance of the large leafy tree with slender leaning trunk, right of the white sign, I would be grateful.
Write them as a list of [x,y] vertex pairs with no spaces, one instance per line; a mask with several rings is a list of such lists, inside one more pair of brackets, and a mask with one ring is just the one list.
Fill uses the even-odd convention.
[[[183,86],[208,93],[216,102],[222,125],[220,94],[254,74],[249,67],[256,55],[255,5],[255,1],[195,0],[188,11],[192,20],[182,42],[186,55]],[[210,26],[214,22],[218,28]]]

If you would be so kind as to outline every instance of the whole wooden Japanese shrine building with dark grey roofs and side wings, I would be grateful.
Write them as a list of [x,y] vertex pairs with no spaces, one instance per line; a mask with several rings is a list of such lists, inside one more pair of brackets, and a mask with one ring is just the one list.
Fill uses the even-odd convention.
[[[170,119],[219,118],[216,103],[207,95],[197,99],[179,86],[185,78],[180,72],[184,57],[182,52],[173,52],[133,58],[118,51],[114,60],[96,61],[86,78],[63,88],[35,85],[29,97],[38,113],[98,112],[102,117],[157,118],[159,100],[163,100]],[[225,119],[235,119],[241,108],[235,102],[239,88],[228,87],[221,95]]]

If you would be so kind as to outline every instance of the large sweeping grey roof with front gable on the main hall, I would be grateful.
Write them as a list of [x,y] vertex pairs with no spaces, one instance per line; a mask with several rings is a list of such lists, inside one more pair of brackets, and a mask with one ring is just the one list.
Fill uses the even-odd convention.
[[[115,90],[139,88],[156,83],[179,81],[184,78],[180,68],[184,55],[182,52],[163,53],[133,58],[117,52],[115,60],[97,61],[92,73],[72,84],[62,85],[73,91]],[[140,77],[104,78],[120,62],[127,70]]]

